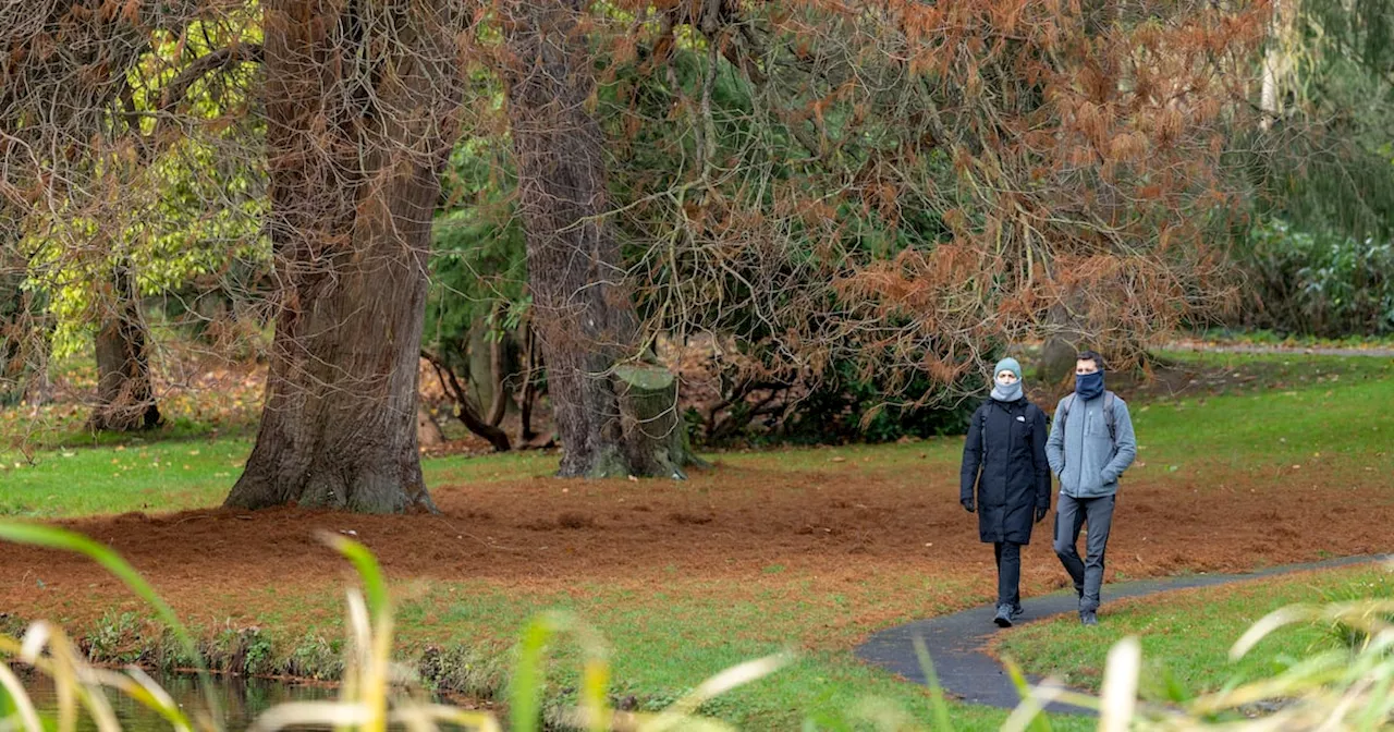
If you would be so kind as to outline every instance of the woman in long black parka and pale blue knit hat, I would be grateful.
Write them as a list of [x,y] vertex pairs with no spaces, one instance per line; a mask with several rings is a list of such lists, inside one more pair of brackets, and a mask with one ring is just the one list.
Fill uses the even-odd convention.
[[[1046,413],[1022,393],[1022,367],[1002,358],[993,369],[993,395],[973,413],[963,442],[959,503],[977,512],[977,533],[997,555],[997,616],[1011,627],[1022,613],[1022,545],[1032,523],[1050,512]],[[976,498],[974,498],[974,488]]]

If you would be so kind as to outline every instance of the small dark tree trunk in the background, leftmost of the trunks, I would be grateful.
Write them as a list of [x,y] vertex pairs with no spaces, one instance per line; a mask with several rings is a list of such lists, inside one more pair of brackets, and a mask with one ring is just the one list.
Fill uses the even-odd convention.
[[110,311],[96,333],[96,409],[91,429],[131,432],[160,424],[151,386],[149,330],[141,314],[135,277],[125,265],[113,273]]

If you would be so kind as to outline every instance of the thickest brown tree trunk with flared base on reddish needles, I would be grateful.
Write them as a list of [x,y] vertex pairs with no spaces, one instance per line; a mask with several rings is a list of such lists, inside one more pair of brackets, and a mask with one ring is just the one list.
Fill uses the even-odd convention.
[[268,0],[282,293],[229,506],[435,510],[417,446],[427,254],[459,89],[452,3]]

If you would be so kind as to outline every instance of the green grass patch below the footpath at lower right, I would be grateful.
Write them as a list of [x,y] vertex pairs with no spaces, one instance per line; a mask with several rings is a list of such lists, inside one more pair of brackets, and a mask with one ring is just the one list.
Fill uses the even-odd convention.
[[[1107,588],[1105,588],[1107,595]],[[1256,620],[1285,605],[1394,597],[1394,570],[1365,566],[1245,581],[1218,588],[1179,590],[1108,604],[1097,627],[1075,616],[1012,630],[995,647],[1027,672],[1058,676],[1097,690],[1108,648],[1125,636],[1142,640],[1144,694],[1163,697],[1174,683],[1189,693],[1270,676],[1315,650],[1340,647],[1327,626],[1294,626],[1269,636],[1236,662],[1230,647]]]

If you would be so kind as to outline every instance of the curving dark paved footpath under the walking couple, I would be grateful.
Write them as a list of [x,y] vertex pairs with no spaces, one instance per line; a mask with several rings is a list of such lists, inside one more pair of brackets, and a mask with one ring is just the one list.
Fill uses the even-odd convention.
[[[1291,572],[1352,566],[1387,561],[1391,556],[1394,555],[1349,556],[1306,565],[1276,566],[1248,574],[1189,574],[1184,577],[1104,584],[1104,609],[1100,613],[1100,622],[1108,622],[1108,604],[1111,601],[1128,597],[1143,597],[1190,587],[1213,587]],[[1073,615],[1079,611],[1079,601],[1073,591],[1025,598],[1022,605],[1026,612],[1018,620],[1018,626],[1052,615]],[[912,682],[924,683],[924,672],[920,669],[913,644],[913,639],[920,636],[930,651],[934,672],[938,675],[940,685],[947,694],[970,704],[1013,708],[1020,701],[1020,697],[1016,693],[1016,687],[1012,686],[1011,676],[1006,675],[1006,671],[994,658],[984,653],[988,641],[998,632],[1011,632],[993,625],[994,609],[994,607],[987,605],[955,612],[953,615],[942,615],[940,618],[888,627],[867,639],[861,646],[857,646],[856,655],[867,664],[881,666]],[[1033,683],[1040,682],[1036,678],[1030,680]],[[1048,711],[1087,714],[1087,710],[1061,706],[1052,706]]]

